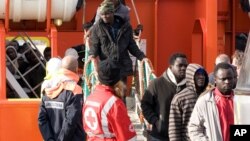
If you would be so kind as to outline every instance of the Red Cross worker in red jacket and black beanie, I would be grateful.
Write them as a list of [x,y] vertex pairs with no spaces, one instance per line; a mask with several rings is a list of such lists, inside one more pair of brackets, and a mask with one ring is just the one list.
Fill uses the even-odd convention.
[[133,141],[134,127],[125,104],[116,94],[121,82],[120,68],[116,61],[103,60],[98,65],[98,79],[94,91],[83,106],[83,125],[88,141]]

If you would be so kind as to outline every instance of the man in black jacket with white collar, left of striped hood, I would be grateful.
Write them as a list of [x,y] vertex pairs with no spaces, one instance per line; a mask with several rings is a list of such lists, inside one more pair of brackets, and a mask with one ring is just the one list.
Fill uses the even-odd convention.
[[169,64],[162,76],[151,81],[141,100],[143,116],[152,124],[152,130],[148,131],[150,141],[169,141],[171,100],[176,93],[186,87],[185,71],[188,65],[186,55],[173,54]]

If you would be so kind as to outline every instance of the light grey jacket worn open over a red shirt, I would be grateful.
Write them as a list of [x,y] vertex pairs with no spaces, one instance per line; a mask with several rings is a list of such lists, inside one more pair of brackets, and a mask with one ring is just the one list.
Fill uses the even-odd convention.
[[188,133],[192,141],[223,140],[213,90],[201,95],[195,104],[188,124]]

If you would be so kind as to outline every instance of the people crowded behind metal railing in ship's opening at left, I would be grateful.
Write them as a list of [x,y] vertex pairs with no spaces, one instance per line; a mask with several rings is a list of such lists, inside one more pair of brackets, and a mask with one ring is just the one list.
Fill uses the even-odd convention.
[[[39,98],[40,96],[41,83],[46,75],[45,63],[50,55],[49,47],[44,50],[42,55],[29,42],[25,42],[23,45],[20,45],[17,40],[6,43],[6,67],[29,98]],[[7,98],[19,98],[8,81]]]

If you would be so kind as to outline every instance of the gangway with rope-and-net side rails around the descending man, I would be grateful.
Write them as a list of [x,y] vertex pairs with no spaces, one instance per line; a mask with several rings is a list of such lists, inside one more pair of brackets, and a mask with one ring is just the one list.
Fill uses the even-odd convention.
[[[137,45],[140,45],[140,38],[136,40]],[[139,46],[140,48],[140,46]],[[89,46],[88,41],[85,46],[85,65],[83,74],[84,99],[90,95],[98,82],[97,79],[97,63],[98,61],[88,56]],[[135,73],[131,84],[130,96],[126,97],[126,106],[128,115],[137,132],[137,140],[146,140],[146,130],[150,129],[150,124],[143,118],[141,110],[141,98],[145,89],[152,79],[156,78],[151,61],[146,58],[142,61],[136,60],[134,69]]]

